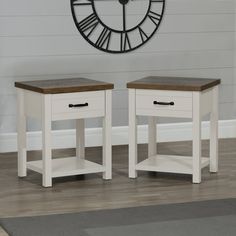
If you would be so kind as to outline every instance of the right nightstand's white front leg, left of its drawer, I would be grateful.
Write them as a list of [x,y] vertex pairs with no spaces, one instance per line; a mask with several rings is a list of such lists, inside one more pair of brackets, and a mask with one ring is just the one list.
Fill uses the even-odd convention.
[[129,178],[137,178],[137,117],[135,89],[129,89]]

